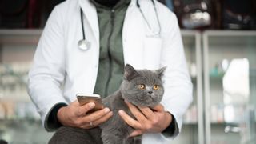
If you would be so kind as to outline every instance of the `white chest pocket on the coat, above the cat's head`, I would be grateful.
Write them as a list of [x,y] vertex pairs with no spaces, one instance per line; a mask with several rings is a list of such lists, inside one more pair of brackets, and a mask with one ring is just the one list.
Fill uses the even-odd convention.
[[144,59],[143,63],[146,69],[156,70],[160,66],[162,53],[162,39],[146,37],[144,41]]

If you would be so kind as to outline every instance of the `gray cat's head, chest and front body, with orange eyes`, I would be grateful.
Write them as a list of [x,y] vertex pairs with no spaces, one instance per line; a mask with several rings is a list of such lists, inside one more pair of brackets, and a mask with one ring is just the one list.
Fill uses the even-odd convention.
[[141,143],[141,137],[128,138],[134,129],[122,120],[118,110],[124,110],[134,118],[124,100],[135,106],[156,106],[164,93],[161,80],[164,70],[166,67],[153,71],[134,70],[129,64],[125,66],[119,90],[103,99],[104,105],[114,113],[107,122],[100,125],[104,144]]

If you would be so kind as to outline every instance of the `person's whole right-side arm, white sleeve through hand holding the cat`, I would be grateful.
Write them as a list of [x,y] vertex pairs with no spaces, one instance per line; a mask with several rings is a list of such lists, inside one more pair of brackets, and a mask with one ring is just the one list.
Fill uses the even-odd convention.
[[181,130],[182,116],[192,102],[192,83],[186,67],[178,21],[170,11],[164,12],[169,12],[164,17],[168,20],[161,21],[163,29],[160,67],[167,67],[163,76],[165,94],[162,104],[155,106],[154,110],[136,107],[128,102],[127,106],[135,119],[119,110],[122,119],[135,129],[130,136],[162,133],[166,138],[174,138]]

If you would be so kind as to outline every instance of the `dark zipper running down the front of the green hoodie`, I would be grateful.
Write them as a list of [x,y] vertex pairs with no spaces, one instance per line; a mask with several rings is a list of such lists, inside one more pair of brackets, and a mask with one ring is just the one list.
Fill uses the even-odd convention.
[[109,76],[107,78],[107,81],[106,81],[106,87],[105,87],[105,91],[104,91],[104,95],[107,96],[108,94],[108,88],[109,88],[109,84],[110,84],[110,78],[112,77],[112,69],[113,69],[113,63],[112,63],[112,56],[110,54],[110,39],[112,37],[112,34],[113,34],[113,31],[114,31],[114,12],[115,10],[112,9],[111,10],[111,19],[110,19],[110,22],[111,22],[111,30],[110,30],[110,35],[108,37],[108,44],[107,44],[107,54],[108,54],[108,57],[110,58],[110,61],[109,61],[109,66],[110,66],[110,69],[109,69]]

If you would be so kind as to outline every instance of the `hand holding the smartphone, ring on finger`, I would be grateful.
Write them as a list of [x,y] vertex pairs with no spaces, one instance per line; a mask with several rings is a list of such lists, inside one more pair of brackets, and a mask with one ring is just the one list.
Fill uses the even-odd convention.
[[83,129],[90,129],[106,122],[113,112],[109,108],[95,111],[88,114],[94,108],[94,102],[79,106],[78,100],[70,103],[69,106],[63,106],[58,110],[57,118],[63,126],[73,126]]

